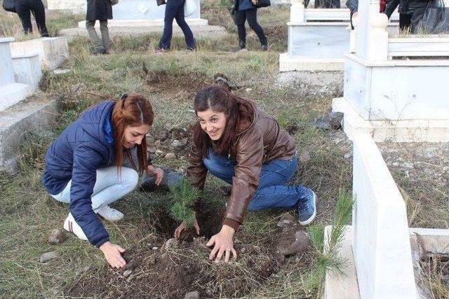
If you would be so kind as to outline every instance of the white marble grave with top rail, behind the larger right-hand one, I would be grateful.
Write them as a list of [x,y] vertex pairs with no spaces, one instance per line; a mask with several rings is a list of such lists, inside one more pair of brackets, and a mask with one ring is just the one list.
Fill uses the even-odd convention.
[[[279,57],[279,71],[342,71],[349,52],[349,9],[304,8],[291,0],[288,51]],[[388,29],[398,30],[398,14]]]

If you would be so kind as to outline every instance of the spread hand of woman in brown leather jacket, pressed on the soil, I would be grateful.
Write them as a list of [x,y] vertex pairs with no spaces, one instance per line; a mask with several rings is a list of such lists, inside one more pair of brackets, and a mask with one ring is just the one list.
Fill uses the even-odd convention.
[[225,253],[225,263],[229,262],[231,253],[234,260],[237,259],[237,252],[234,249],[234,241],[232,240],[234,232],[234,228],[228,225],[223,225],[222,230],[220,230],[217,235],[213,235],[210,238],[206,246],[212,246],[213,244],[215,244],[215,246],[212,251],[210,251],[209,260],[212,260],[216,255],[215,263],[219,263],[223,257],[223,253]]

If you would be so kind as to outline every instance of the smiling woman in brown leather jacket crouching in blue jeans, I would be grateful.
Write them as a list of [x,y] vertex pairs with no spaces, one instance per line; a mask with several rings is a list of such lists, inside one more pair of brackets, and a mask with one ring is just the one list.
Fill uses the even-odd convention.
[[[210,259],[236,258],[233,236],[247,209],[294,208],[300,224],[314,221],[314,191],[286,186],[297,167],[297,150],[272,116],[218,85],[200,90],[194,109],[198,121],[187,176],[196,188],[204,188],[207,172],[232,185],[222,229],[207,244],[214,245]],[[199,232],[196,221],[195,227]],[[181,223],[175,237],[184,229]]]

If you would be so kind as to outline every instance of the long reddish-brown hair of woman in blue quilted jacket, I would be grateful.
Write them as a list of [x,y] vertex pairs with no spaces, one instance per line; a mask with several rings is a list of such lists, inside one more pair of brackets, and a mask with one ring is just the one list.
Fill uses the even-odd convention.
[[[154,114],[152,105],[142,95],[135,93],[125,94],[114,105],[112,111],[112,126],[114,127],[114,149],[116,154],[117,167],[123,164],[123,140],[125,139],[125,129],[128,126],[138,127],[139,125],[153,124]],[[138,172],[142,174],[147,167],[147,141],[145,136],[142,143],[137,144],[138,150]],[[135,162],[127,151],[130,162],[135,167]],[[137,170],[137,167],[136,167]]]

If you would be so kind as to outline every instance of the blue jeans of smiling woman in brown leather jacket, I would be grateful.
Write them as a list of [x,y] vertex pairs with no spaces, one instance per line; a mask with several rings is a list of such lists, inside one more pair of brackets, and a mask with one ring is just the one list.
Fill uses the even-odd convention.
[[[218,178],[232,183],[236,161],[225,155],[214,153],[209,149],[209,155],[203,158],[208,171]],[[307,200],[311,190],[302,185],[286,186],[296,170],[297,155],[290,160],[272,160],[262,165],[259,186],[251,199],[248,210],[257,211],[267,208],[292,208],[300,200]]]

